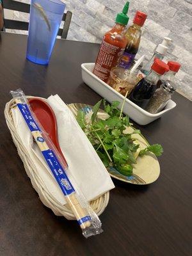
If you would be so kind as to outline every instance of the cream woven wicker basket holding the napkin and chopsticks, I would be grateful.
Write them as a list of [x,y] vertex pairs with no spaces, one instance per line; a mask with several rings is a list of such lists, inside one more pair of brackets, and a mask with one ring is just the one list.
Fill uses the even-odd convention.
[[[30,97],[28,97],[30,98]],[[45,99],[44,99],[45,100]],[[75,220],[75,216],[70,211],[70,208],[68,205],[62,205],[60,204],[54,196],[52,196],[46,189],[44,182],[40,179],[40,176],[38,175],[38,170],[36,169],[35,164],[33,161],[31,161],[29,155],[27,154],[24,145],[21,143],[19,136],[17,135],[17,131],[15,130],[15,126],[13,124],[13,118],[12,118],[12,108],[15,108],[15,100],[12,99],[10,102],[8,102],[4,109],[4,116],[6,118],[6,124],[8,125],[8,128],[10,129],[10,132],[12,134],[13,142],[15,143],[15,146],[17,147],[18,154],[20,156],[20,159],[22,160],[24,164],[24,168],[26,170],[26,173],[28,174],[28,177],[31,179],[31,184],[33,185],[33,188],[38,193],[40,200],[42,200],[43,204],[52,209],[54,214],[57,216],[64,216],[67,218],[67,220]],[[93,200],[90,205],[93,208],[93,210],[97,213],[99,216],[102,214],[106,206],[109,202],[109,191],[105,193],[104,195],[100,196],[96,200]]]

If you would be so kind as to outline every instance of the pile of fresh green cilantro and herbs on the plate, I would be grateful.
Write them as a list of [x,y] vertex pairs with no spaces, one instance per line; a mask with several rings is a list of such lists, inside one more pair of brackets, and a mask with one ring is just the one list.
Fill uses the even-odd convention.
[[[100,105],[104,105],[104,111],[109,117],[106,120],[97,118]],[[84,111],[77,112],[77,122],[92,143],[100,159],[106,167],[114,166],[118,172],[132,175],[132,164],[136,164],[134,153],[140,145],[134,142],[132,134],[141,134],[141,131],[134,129],[132,133],[125,133],[125,129],[131,124],[129,116],[123,115],[124,102],[121,110],[118,109],[120,102],[113,101],[111,105],[106,100],[100,100],[93,106],[93,113],[90,122],[86,120]],[[150,145],[140,151],[140,156],[152,152],[161,156],[163,148],[161,145]]]

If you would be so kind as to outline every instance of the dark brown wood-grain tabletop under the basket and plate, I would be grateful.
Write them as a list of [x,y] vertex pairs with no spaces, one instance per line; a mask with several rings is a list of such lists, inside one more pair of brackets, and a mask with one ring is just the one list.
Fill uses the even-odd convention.
[[10,90],[67,103],[100,99],[81,79],[81,63],[93,62],[99,45],[57,40],[49,66],[26,60],[27,38],[1,33],[0,42],[0,255],[192,255],[191,102],[178,93],[177,108],[145,127],[150,143],[161,143],[161,175],[149,186],[115,182],[100,216],[103,234],[85,239],[76,221],[56,217],[31,186],[3,110]]

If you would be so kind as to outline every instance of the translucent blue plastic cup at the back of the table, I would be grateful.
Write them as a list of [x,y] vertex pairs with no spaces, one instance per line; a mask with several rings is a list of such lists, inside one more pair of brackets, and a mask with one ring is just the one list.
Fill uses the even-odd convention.
[[65,10],[60,0],[31,0],[27,59],[49,63]]

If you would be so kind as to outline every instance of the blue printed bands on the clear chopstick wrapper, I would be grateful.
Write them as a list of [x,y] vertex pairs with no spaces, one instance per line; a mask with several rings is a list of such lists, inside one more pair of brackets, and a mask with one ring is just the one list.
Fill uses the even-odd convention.
[[[33,116],[31,115],[31,111],[28,108],[27,104],[18,103],[17,104],[20,113],[24,117],[24,120],[26,121],[26,124],[28,125],[31,132],[35,131],[41,131],[40,127],[36,124]],[[39,142],[44,142],[43,137],[38,137],[37,140]],[[60,162],[58,161],[58,158],[54,154],[54,152],[51,149],[47,149],[42,151],[42,154],[45,158],[45,161],[49,165],[49,168],[51,169],[52,174],[54,175],[55,179],[57,180],[58,184],[60,185],[61,190],[63,191],[63,194],[65,196],[70,195],[71,193],[75,192],[75,189],[73,188],[72,184],[70,183],[70,180],[68,179],[65,169],[63,166],[61,166]]]

